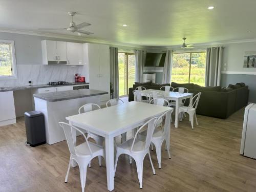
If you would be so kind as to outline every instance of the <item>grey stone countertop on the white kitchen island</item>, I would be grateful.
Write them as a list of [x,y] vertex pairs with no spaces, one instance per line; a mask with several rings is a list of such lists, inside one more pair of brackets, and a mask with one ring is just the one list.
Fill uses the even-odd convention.
[[70,90],[70,91],[58,91],[58,92],[51,92],[51,93],[39,93],[39,94],[34,94],[33,96],[49,102],[56,102],[56,101],[91,97],[91,96],[104,95],[104,94],[108,94],[108,92],[93,90],[93,89],[80,89],[80,90]]

